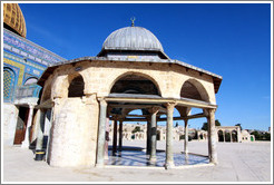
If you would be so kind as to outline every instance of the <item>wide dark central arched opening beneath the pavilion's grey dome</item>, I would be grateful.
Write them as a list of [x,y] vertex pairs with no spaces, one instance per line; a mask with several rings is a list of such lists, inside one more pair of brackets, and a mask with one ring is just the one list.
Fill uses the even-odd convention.
[[112,86],[110,94],[138,94],[160,96],[160,93],[153,80],[135,74],[126,75],[118,79]]

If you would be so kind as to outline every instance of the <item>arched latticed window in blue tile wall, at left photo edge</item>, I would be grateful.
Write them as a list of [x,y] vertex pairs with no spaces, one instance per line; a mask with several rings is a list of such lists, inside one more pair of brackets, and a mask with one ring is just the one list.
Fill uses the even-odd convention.
[[10,68],[3,68],[3,99],[10,100],[14,90],[16,74]]

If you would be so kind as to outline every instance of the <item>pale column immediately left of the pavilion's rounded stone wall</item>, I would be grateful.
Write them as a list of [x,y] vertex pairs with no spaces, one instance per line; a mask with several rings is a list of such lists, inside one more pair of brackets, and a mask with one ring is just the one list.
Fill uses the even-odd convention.
[[40,111],[40,119],[37,125],[37,140],[36,140],[36,150],[42,149],[42,143],[43,143],[43,128],[45,128],[45,118],[46,118],[46,110],[39,109]]

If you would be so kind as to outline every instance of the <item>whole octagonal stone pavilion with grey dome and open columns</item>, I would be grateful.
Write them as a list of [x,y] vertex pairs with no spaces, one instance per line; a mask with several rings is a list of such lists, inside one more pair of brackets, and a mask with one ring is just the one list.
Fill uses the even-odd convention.
[[[146,121],[146,148],[149,163],[154,163],[157,160],[154,130],[157,121],[166,121],[165,167],[172,168],[175,165],[173,120],[185,121],[184,135],[188,138],[188,119],[205,117],[209,125],[208,159],[216,164],[215,94],[222,79],[207,70],[169,59],[159,40],[145,28],[133,23],[118,29],[107,37],[97,57],[51,65],[38,80],[43,90],[37,111],[40,119],[36,124],[43,125],[40,120],[45,120],[46,110],[52,113],[47,159],[58,167],[104,166],[108,158],[106,143],[111,120],[112,155],[117,154],[118,134],[123,150],[123,121]],[[192,107],[200,108],[202,114],[190,115]],[[174,115],[175,108],[179,116]],[[138,109],[140,115],[130,114]],[[37,137],[37,150],[42,148],[42,135]],[[185,154],[188,153],[187,140]]]

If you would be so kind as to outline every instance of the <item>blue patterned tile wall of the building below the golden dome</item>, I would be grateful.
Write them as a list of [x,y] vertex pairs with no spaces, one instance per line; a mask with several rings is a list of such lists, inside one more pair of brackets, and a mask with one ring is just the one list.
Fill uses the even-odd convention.
[[3,29],[3,100],[38,97],[41,87],[25,85],[30,78],[39,79],[47,66],[66,59]]

